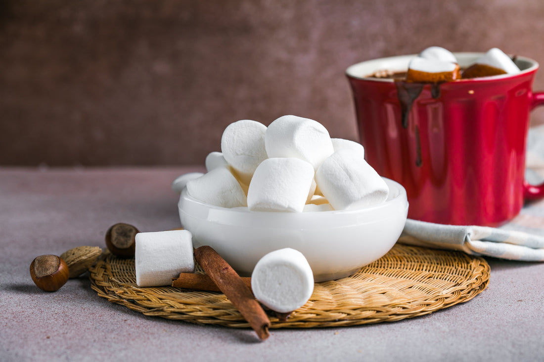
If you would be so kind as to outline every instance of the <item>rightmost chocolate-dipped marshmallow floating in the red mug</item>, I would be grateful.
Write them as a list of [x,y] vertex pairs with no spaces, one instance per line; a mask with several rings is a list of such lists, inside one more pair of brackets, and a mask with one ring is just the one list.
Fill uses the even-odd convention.
[[516,74],[520,68],[498,48],[491,48],[463,72],[463,78]]

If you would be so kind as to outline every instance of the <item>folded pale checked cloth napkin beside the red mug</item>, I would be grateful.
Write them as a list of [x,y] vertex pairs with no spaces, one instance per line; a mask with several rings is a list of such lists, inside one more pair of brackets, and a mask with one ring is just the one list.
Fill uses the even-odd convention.
[[[544,180],[544,126],[529,130],[526,178]],[[443,225],[407,220],[399,242],[509,260],[544,261],[544,201],[527,204],[499,227]]]

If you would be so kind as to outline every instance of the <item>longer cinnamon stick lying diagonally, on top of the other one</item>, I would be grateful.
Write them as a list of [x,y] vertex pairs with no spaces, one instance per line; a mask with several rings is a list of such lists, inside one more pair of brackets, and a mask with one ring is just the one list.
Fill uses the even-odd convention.
[[234,269],[212,247],[195,250],[195,259],[221,292],[234,304],[261,340],[270,336],[270,320]]

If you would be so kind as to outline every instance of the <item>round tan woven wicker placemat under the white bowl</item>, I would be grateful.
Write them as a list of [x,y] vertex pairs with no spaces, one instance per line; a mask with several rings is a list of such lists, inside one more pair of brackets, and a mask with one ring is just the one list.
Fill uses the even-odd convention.
[[[472,299],[486,288],[489,274],[483,258],[397,244],[349,277],[316,283],[310,300],[286,321],[271,316],[271,328],[354,326],[429,314]],[[219,292],[139,288],[134,259],[104,254],[90,279],[99,296],[148,316],[249,327]]]

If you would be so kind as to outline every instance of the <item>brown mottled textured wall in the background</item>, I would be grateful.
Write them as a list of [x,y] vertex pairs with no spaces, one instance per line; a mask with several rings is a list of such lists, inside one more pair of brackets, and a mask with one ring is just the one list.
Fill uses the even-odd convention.
[[203,164],[227,124],[285,114],[357,140],[349,65],[431,45],[544,63],[542,34],[541,0],[0,0],[0,165]]

